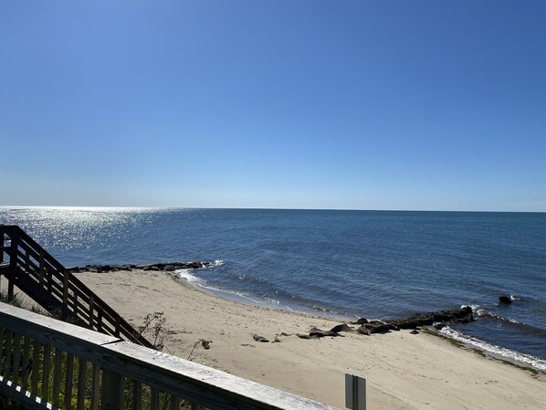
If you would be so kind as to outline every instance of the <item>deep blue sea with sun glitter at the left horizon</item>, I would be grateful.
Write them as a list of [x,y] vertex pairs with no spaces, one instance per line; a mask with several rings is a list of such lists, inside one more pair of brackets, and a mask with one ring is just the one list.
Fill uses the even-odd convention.
[[279,309],[386,319],[471,305],[478,320],[446,334],[546,370],[546,214],[5,206],[0,224],[66,266],[217,260],[179,274]]

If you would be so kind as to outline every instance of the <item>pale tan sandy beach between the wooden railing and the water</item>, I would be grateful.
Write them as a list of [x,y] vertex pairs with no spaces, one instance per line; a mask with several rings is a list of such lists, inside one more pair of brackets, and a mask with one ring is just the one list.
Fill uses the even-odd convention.
[[[423,331],[303,340],[296,334],[341,321],[223,300],[165,272],[76,276],[135,327],[148,313],[163,311],[164,352],[191,354],[194,362],[339,408],[345,408],[345,373],[366,378],[369,409],[546,408],[543,373]],[[279,335],[280,342],[256,342],[255,334],[269,341]],[[210,349],[200,340],[210,341]]]

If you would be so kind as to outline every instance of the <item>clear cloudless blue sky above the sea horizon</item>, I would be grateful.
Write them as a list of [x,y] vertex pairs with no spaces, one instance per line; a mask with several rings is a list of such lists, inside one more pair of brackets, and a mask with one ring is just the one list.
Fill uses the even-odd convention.
[[546,212],[546,2],[0,3],[0,205]]

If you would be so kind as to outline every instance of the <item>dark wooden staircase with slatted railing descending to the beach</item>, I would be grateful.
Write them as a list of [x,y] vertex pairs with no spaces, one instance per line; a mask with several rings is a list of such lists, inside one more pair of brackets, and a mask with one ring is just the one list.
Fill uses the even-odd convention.
[[153,347],[19,226],[0,225],[0,238],[0,276],[8,280],[8,299],[17,287],[63,321]]

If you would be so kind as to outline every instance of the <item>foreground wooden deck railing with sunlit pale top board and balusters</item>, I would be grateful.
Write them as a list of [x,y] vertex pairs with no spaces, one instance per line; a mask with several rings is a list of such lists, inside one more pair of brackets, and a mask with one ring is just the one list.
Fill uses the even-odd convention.
[[28,409],[336,410],[0,303],[0,394]]

